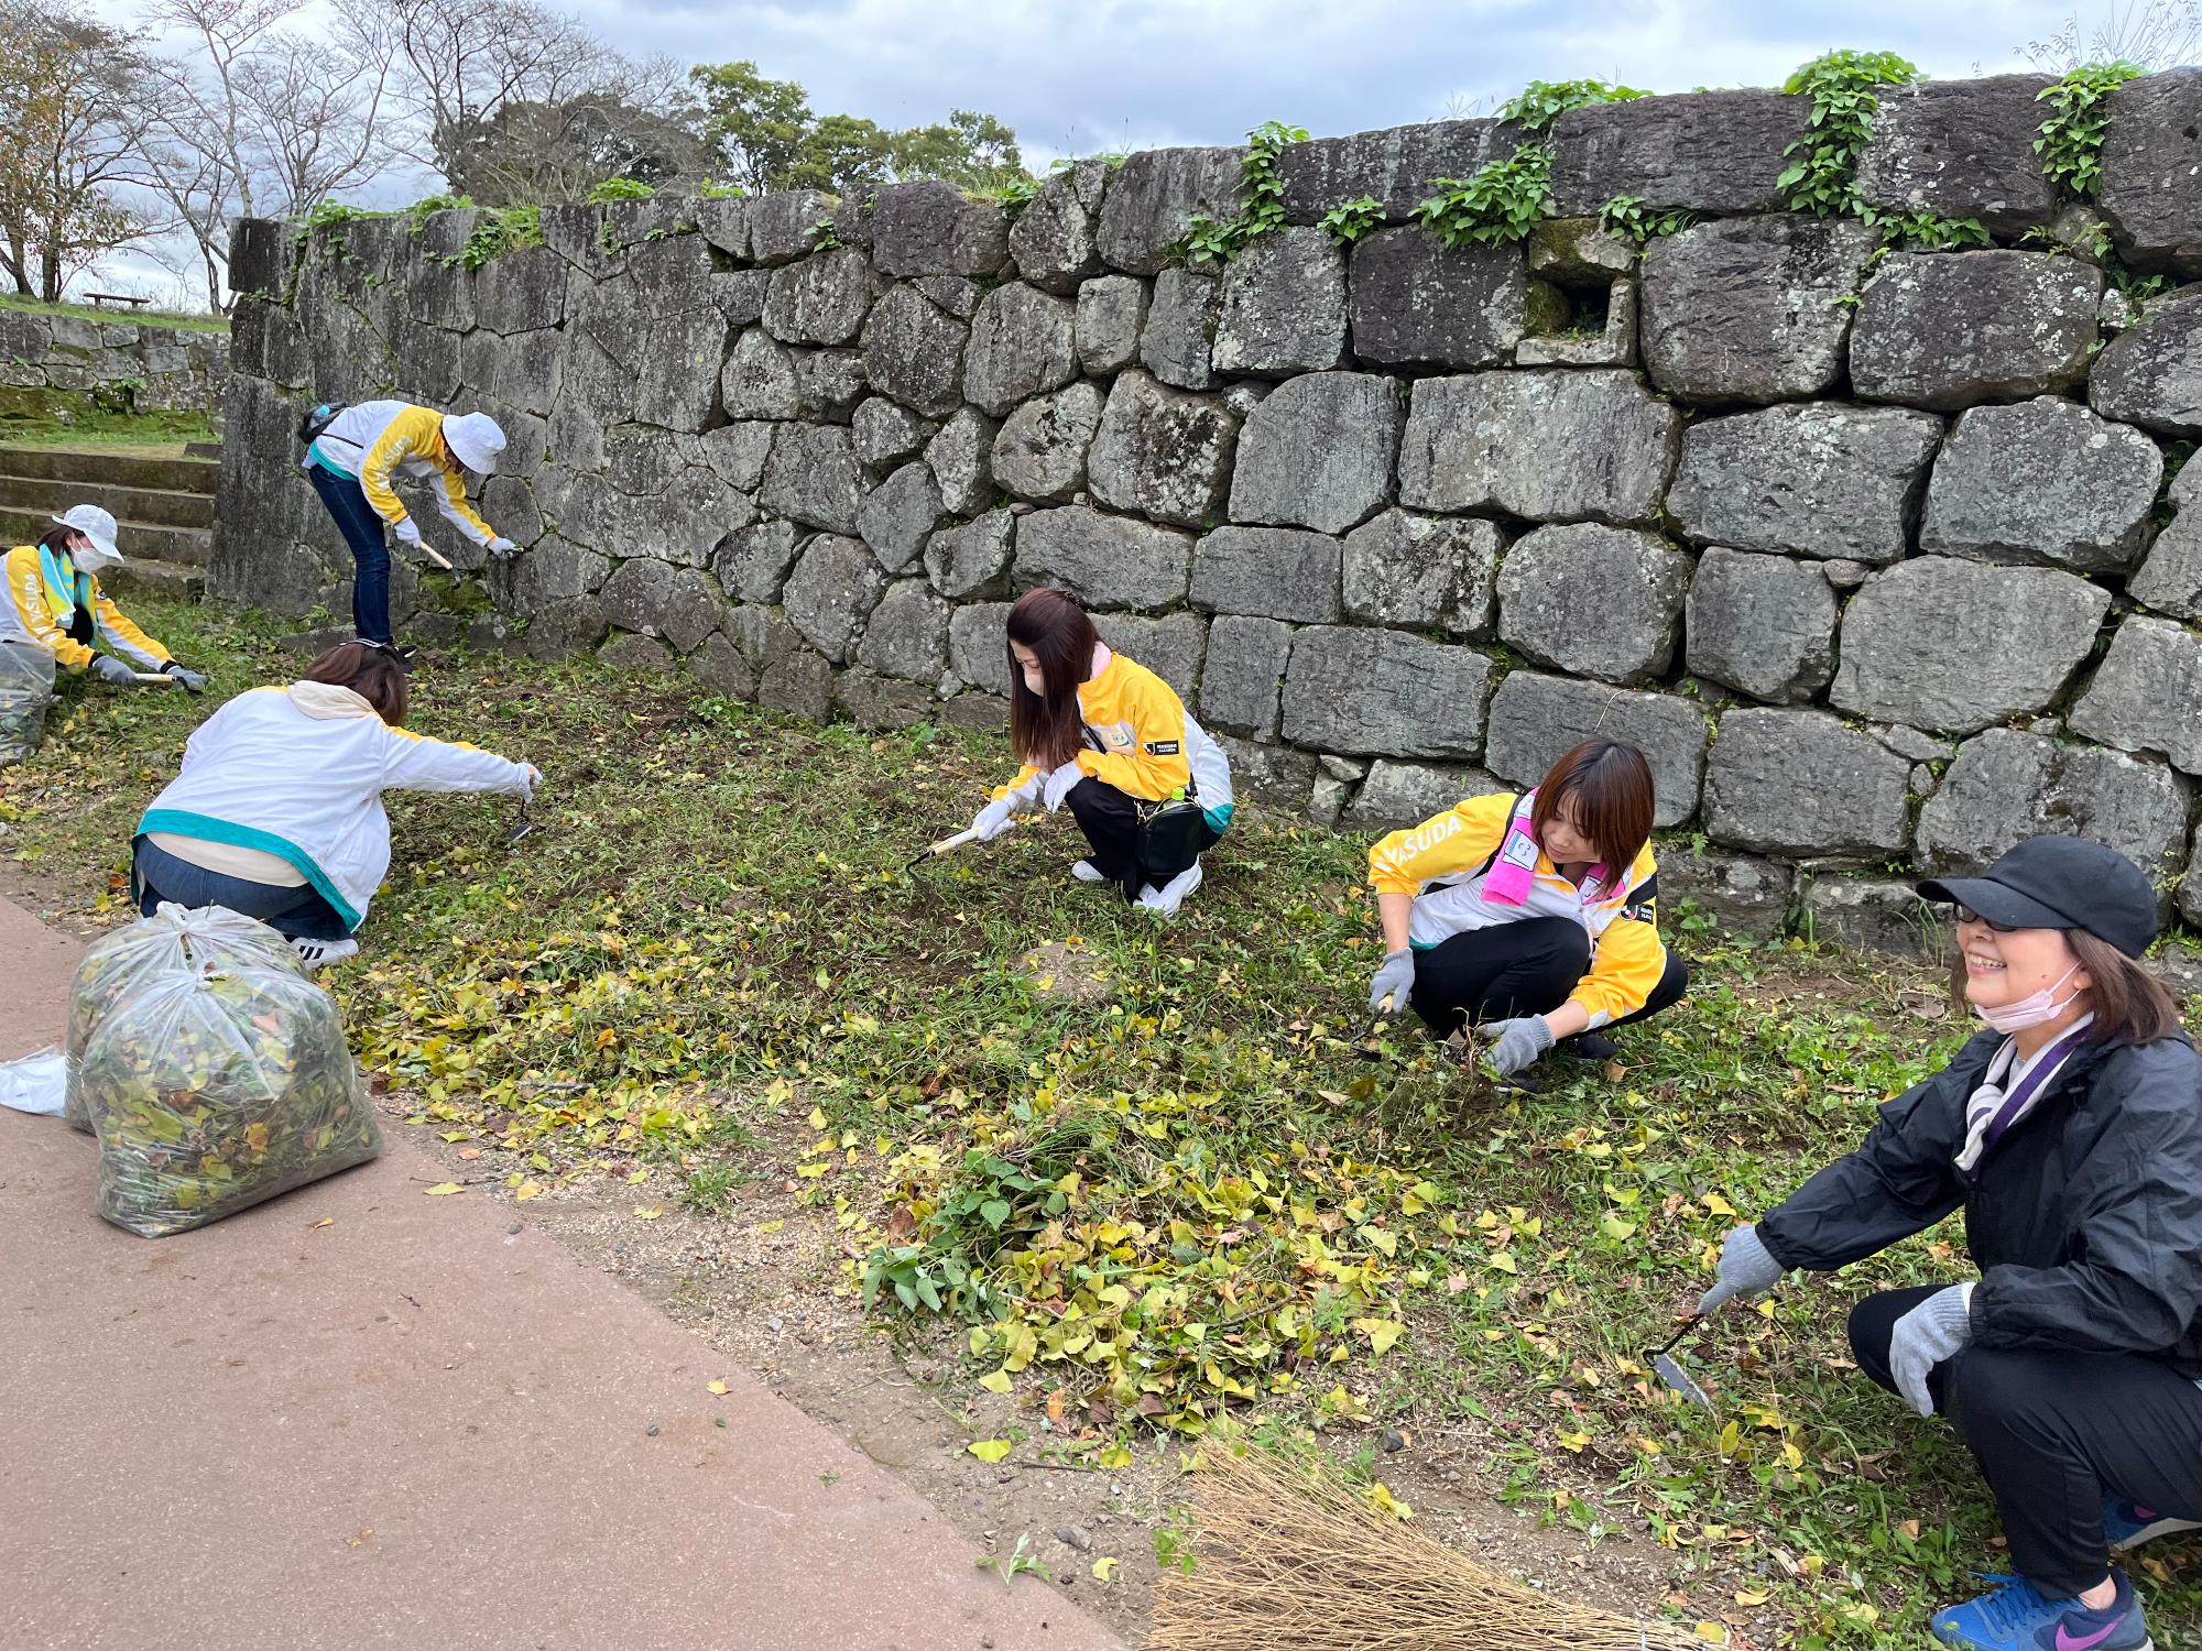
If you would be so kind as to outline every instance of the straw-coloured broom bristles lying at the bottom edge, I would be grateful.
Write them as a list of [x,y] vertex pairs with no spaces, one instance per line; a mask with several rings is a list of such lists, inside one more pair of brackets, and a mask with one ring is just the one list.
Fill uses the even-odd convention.
[[1508,1583],[1262,1451],[1211,1446],[1193,1519],[1196,1565],[1163,1572],[1147,1651],[1704,1651],[1674,1625]]

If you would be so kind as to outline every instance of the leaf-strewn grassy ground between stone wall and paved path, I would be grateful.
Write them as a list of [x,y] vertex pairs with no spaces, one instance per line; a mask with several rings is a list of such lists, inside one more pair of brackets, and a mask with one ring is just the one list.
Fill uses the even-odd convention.
[[[286,669],[247,623],[145,616],[218,660],[220,691]],[[1629,1070],[1506,1105],[1418,1037],[1376,1063],[1343,1041],[1374,936],[1352,839],[1253,814],[1158,927],[1064,876],[1061,826],[896,874],[969,817],[1000,742],[806,729],[592,667],[436,660],[416,680],[416,726],[544,768],[539,830],[506,850],[509,801],[394,799],[399,861],[337,991],[368,1065],[522,1195],[650,1165],[724,1209],[755,1136],[797,1131],[843,1288],[883,1253],[879,1312],[901,1316],[903,1283],[967,1314],[969,1376],[1026,1418],[1011,1437],[1110,1462],[1154,1426],[1211,1426],[1227,1393],[1348,1448],[1363,1418],[1473,1418],[1508,1499],[1592,1548],[1649,1526],[1669,1609],[1759,1644],[1920,1644],[1927,1609],[1993,1565],[1962,1448],[1841,1347],[1872,1283],[1962,1272],[1955,1228],[1709,1330],[1711,1413],[1636,1363],[1731,1211],[1841,1151],[1949,1048],[1918,975],[1671,918],[1698,986],[1627,1035]],[[130,823],[203,707],[73,704],[0,770],[0,852],[86,911],[112,907]],[[1044,940],[1108,1002],[1022,971]],[[1072,1415],[1053,1444],[1050,1389]],[[2147,1570],[2178,1644],[2202,1554],[2165,1545]]]

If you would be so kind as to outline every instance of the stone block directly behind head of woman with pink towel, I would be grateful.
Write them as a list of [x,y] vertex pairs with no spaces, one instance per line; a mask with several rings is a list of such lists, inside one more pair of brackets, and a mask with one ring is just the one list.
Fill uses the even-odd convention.
[[1713,731],[1689,700],[1508,671],[1491,696],[1486,724],[1484,766],[1524,790],[1583,740],[1621,740],[1636,746],[1652,768],[1654,826],[1680,826],[1698,812],[1704,748]]

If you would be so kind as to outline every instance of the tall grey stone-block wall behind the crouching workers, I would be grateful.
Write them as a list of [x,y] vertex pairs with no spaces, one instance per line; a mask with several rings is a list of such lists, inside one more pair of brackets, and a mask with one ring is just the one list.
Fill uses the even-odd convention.
[[[1596,731],[1652,757],[1669,896],[1735,922],[1900,938],[1903,872],[2043,828],[2202,920],[2202,471],[2167,491],[2202,288],[2138,313],[2085,253],[2202,275],[2202,70],[2116,92],[2099,211],[2041,178],[2043,84],[1883,103],[1865,198],[1980,218],[1973,251],[1781,214],[1808,110],[1775,92],[1563,117],[1572,218],[1504,249],[1407,222],[1493,121],[1290,147],[1290,225],[1204,271],[1171,244],[1235,211],[1242,150],[1081,163],[1017,218],[927,183],[553,209],[478,273],[438,262],[467,214],[247,225],[214,588],[344,608],[304,396],[478,405],[526,550],[493,616],[416,634],[1000,726],[1002,619],[1046,581],[1323,821]],[[1387,227],[1339,249],[1317,220],[1363,194]],[[1638,255],[1596,233],[1614,196],[1702,222]]]

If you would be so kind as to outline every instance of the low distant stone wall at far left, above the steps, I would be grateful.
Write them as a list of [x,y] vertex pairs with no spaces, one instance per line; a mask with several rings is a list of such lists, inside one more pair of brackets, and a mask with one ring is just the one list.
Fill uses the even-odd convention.
[[220,418],[229,335],[0,310],[0,440],[9,418],[68,423],[97,407]]

